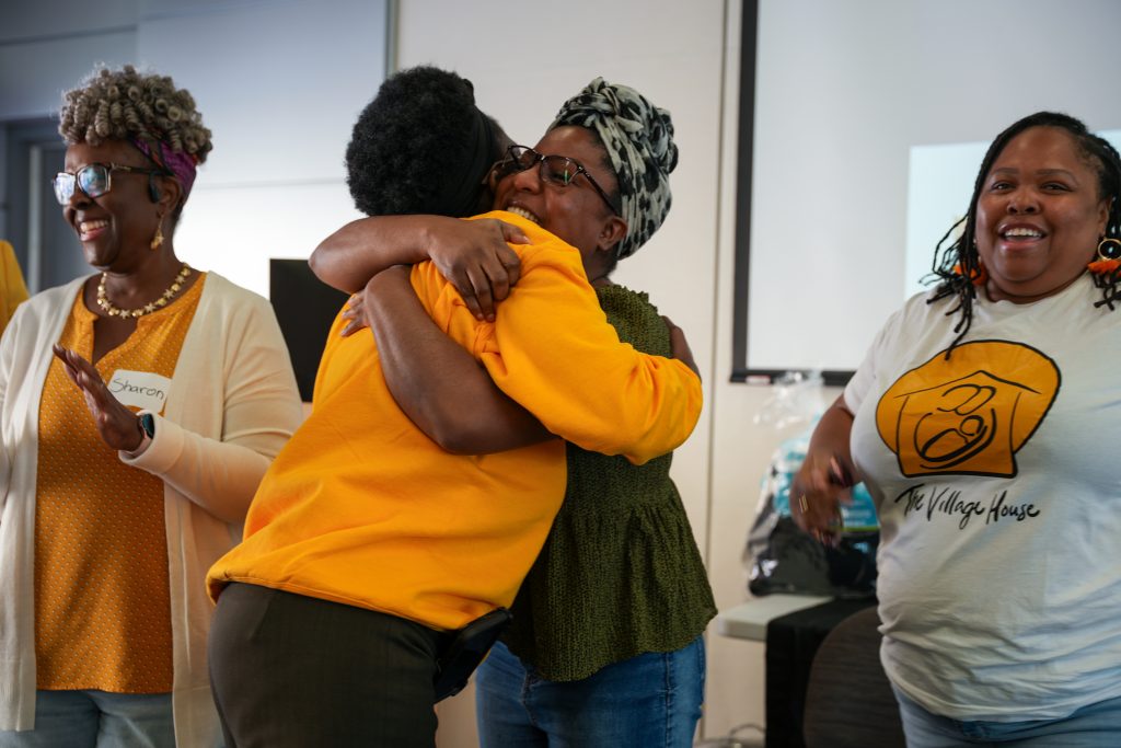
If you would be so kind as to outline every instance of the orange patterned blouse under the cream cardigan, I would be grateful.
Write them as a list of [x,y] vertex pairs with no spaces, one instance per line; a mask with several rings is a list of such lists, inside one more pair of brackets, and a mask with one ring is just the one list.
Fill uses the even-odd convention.
[[[159,377],[170,380],[204,281],[139,317],[136,332],[96,362],[111,389],[131,380],[155,393]],[[90,360],[96,318],[80,293],[59,343]],[[164,482],[102,441],[57,359],[39,407],[35,656],[43,690],[172,690]]]

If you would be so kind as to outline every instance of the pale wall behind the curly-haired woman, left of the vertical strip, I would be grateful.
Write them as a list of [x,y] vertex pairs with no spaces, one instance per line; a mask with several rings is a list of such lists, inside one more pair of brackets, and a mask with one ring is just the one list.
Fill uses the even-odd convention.
[[305,258],[359,215],[343,154],[386,35],[385,0],[6,1],[0,121],[57,116],[96,64],[170,75],[214,133],[176,251],[268,295],[270,257]]

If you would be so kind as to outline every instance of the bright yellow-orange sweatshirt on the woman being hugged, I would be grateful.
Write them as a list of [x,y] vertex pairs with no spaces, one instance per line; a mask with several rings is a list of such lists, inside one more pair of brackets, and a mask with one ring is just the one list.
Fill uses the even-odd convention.
[[[495,216],[495,214],[488,214]],[[531,244],[521,279],[485,323],[432,262],[411,281],[436,324],[553,433],[645,462],[678,446],[701,412],[679,361],[621,343],[580,252],[509,213]],[[565,489],[560,440],[484,456],[441,450],[398,408],[373,335],[341,338],[319,364],[312,415],[261,482],[244,542],[209,575],[454,629],[509,606]]]

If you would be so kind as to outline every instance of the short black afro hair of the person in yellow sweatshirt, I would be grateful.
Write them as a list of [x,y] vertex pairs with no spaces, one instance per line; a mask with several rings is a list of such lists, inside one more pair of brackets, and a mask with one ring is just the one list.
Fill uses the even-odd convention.
[[[367,215],[443,212],[448,176],[462,169],[457,159],[475,149],[479,117],[474,87],[455,73],[423,65],[388,77],[359,116],[346,147],[354,205]],[[500,155],[498,146],[492,150],[488,165]]]

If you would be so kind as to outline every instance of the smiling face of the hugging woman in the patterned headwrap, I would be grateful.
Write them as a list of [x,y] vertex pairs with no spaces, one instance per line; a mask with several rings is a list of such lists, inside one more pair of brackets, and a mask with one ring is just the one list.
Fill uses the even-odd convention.
[[[585,128],[555,128],[534,149],[547,156],[567,156],[586,168],[609,194],[618,191],[615,175],[605,166],[603,146]],[[610,250],[627,233],[627,223],[611,212],[584,175],[564,187],[543,184],[539,165],[499,182],[494,207],[527,218],[578,249],[592,280],[605,273],[602,268]]]

